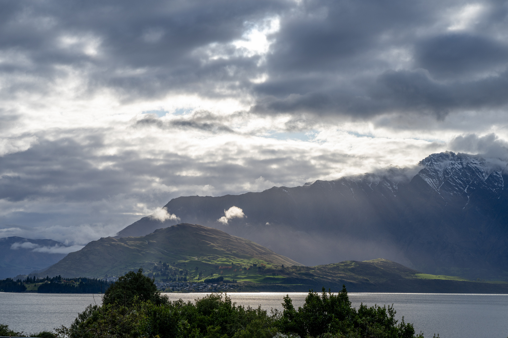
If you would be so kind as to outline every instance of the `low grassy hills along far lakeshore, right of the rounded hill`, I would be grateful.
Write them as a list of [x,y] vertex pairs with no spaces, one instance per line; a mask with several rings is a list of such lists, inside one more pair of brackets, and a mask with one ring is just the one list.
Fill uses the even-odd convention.
[[[505,282],[468,281],[455,276],[420,274],[396,262],[378,258],[366,261],[342,261],[315,267],[271,266],[255,280],[244,281],[243,291],[308,291],[322,286],[339,291],[345,284],[351,292],[450,292],[506,293]],[[257,283],[250,283],[255,281]]]

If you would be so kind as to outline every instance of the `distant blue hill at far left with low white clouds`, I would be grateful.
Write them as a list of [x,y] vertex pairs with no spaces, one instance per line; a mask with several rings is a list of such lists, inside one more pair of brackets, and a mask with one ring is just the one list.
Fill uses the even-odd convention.
[[50,239],[0,238],[0,279],[45,269],[67,255],[55,250],[65,247]]

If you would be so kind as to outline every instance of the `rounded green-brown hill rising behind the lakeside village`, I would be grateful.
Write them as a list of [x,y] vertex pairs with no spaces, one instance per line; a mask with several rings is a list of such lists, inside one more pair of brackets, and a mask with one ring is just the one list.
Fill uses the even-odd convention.
[[[143,237],[101,238],[41,272],[41,275],[104,277],[143,267],[150,272],[167,262],[185,276],[216,272],[218,266],[301,265],[244,238],[197,224],[178,224]],[[160,268],[160,267],[159,267]],[[166,269],[167,270],[167,269]],[[183,273],[182,273],[183,276]]]

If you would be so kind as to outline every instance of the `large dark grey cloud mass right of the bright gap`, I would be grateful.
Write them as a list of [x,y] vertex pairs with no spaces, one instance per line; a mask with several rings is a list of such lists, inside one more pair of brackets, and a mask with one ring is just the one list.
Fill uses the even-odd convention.
[[[275,34],[270,80],[256,87],[256,111],[354,117],[416,112],[442,118],[508,103],[502,3],[479,3],[489,15],[456,32],[446,19],[464,2],[304,4],[283,17]],[[397,61],[401,51],[405,60]]]

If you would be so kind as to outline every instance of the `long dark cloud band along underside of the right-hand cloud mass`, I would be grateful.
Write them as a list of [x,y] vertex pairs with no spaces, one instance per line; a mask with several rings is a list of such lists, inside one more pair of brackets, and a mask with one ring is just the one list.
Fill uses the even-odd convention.
[[[399,112],[429,114],[438,119],[458,109],[498,108],[508,103],[508,72],[479,80],[442,83],[425,69],[389,70],[363,88],[338,85],[321,91],[264,97],[256,111],[316,112],[371,117]],[[417,126],[415,126],[417,127]]]

